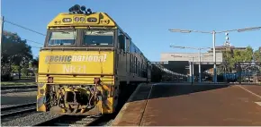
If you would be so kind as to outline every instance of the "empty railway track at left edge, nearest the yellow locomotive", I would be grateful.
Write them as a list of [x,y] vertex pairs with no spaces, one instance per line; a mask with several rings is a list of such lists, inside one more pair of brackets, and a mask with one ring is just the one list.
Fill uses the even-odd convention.
[[36,111],[36,102],[17,106],[3,107],[1,108],[1,119],[17,114],[31,113],[33,111]]

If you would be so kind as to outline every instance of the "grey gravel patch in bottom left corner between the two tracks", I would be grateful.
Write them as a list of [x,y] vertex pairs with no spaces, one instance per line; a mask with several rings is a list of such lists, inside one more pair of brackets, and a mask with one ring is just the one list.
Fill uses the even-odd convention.
[[35,114],[28,114],[24,117],[19,117],[14,120],[1,123],[2,126],[32,126],[38,123],[43,123],[50,119],[60,116],[59,114],[49,114],[38,112]]

